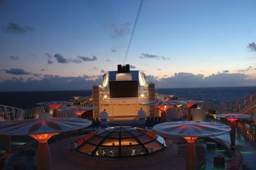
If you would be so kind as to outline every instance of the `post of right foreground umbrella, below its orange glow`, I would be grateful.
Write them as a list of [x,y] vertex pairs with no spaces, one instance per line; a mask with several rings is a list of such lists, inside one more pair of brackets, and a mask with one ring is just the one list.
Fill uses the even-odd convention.
[[196,145],[187,143],[186,170],[196,170]]

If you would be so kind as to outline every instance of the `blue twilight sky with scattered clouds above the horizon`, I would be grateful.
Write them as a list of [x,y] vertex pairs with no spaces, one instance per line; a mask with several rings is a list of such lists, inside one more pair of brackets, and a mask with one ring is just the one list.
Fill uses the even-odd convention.
[[256,86],[255,0],[0,0],[0,91],[90,90],[117,64],[157,88]]

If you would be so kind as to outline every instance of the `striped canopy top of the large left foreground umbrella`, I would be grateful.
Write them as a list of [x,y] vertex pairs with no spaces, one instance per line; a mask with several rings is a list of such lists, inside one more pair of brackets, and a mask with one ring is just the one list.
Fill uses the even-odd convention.
[[88,127],[90,120],[82,118],[38,118],[0,124],[1,135],[52,134],[76,131]]

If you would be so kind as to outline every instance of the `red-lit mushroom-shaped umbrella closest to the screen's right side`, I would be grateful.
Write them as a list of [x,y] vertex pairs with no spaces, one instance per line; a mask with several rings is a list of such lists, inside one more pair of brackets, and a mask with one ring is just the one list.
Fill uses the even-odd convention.
[[159,110],[161,110],[161,122],[166,122],[166,110],[168,110],[168,108],[174,105],[185,104],[185,103],[183,101],[150,101],[150,102],[145,102],[141,104],[157,107]]

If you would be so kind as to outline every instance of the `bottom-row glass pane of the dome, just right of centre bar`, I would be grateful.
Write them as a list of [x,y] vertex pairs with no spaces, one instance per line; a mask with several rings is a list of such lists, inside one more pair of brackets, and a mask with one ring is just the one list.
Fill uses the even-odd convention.
[[143,155],[145,153],[147,153],[147,150],[141,145],[121,148],[121,157],[131,157],[134,155]]

